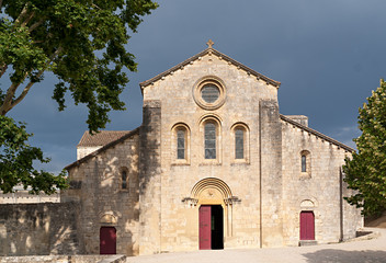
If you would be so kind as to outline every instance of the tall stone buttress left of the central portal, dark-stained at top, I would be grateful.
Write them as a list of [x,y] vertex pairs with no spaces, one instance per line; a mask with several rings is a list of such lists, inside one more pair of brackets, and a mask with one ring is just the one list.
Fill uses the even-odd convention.
[[161,104],[144,101],[139,157],[140,254],[160,250]]

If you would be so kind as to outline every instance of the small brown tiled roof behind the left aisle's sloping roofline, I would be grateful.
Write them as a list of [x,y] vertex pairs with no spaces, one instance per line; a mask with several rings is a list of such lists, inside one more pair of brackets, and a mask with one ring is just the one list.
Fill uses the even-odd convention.
[[102,130],[98,134],[91,135],[89,130],[86,130],[78,146],[105,146],[128,133],[129,130]]

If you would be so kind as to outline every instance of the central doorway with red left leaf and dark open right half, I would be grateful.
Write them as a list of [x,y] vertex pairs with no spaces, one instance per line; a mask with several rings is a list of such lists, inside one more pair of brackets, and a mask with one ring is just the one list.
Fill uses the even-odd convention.
[[202,205],[198,211],[200,249],[224,249],[224,211],[220,205]]

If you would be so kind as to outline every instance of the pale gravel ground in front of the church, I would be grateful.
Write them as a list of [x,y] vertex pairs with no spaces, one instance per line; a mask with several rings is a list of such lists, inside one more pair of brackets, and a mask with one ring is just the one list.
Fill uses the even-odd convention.
[[[365,228],[379,232],[371,240],[354,240],[337,244],[277,249],[225,249],[179,252],[127,258],[128,263],[386,263],[386,229]],[[361,239],[365,239],[362,237]]]

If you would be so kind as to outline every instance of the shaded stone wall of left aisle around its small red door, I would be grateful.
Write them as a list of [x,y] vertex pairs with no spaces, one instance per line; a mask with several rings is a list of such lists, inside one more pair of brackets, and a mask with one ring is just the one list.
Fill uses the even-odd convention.
[[[116,253],[138,254],[138,148],[135,133],[69,170],[76,187],[63,191],[61,202],[80,203],[79,238],[88,254],[100,253],[101,227],[116,229]],[[128,175],[127,188],[122,188],[123,170]]]

